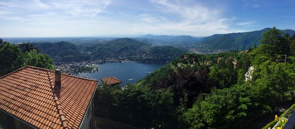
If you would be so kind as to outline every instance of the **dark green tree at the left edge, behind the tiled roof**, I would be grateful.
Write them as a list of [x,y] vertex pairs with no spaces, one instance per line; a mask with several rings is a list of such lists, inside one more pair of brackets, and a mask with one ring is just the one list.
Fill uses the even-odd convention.
[[23,52],[18,46],[5,43],[0,48],[0,76],[10,73],[23,65]]

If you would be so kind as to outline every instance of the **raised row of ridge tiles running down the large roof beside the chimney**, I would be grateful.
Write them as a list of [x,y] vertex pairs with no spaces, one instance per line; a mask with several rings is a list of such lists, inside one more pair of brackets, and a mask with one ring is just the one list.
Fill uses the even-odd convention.
[[51,89],[52,89],[52,93],[53,93],[53,97],[54,97],[54,102],[56,104],[56,107],[57,107],[57,110],[58,110],[58,113],[59,113],[59,120],[61,122],[61,125],[62,125],[63,129],[68,129],[67,122],[65,120],[65,115],[62,113],[62,109],[60,108],[59,99],[57,97],[57,93],[56,93],[56,90],[54,88],[54,83],[53,83],[52,78],[50,76],[50,71],[51,70],[48,70],[48,69],[46,69],[46,70],[47,70],[47,74],[48,74],[48,79],[49,79],[49,82],[50,82],[50,86],[51,86]]

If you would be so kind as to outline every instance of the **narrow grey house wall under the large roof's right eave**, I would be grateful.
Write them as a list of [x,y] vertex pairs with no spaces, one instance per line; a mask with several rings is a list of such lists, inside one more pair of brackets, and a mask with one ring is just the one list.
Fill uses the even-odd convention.
[[80,129],[93,129],[93,98],[90,101]]

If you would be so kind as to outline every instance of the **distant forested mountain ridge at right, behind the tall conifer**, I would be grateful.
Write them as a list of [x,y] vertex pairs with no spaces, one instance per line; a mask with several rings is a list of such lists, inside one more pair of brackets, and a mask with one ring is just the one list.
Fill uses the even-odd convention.
[[[228,50],[245,50],[252,48],[254,45],[258,46],[262,38],[262,34],[270,28],[265,28],[258,31],[230,33],[230,34],[215,34],[203,38],[201,44],[206,44],[208,49],[228,49]],[[282,30],[284,34],[293,36],[294,30]]]

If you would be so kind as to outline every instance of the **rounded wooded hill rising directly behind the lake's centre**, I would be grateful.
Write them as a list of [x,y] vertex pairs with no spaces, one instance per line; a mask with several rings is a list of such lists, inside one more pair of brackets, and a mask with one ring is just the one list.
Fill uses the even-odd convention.
[[147,41],[131,38],[118,38],[107,43],[90,45],[87,49],[92,54],[91,59],[114,58],[145,63],[165,63],[187,50],[173,46],[154,46]]

